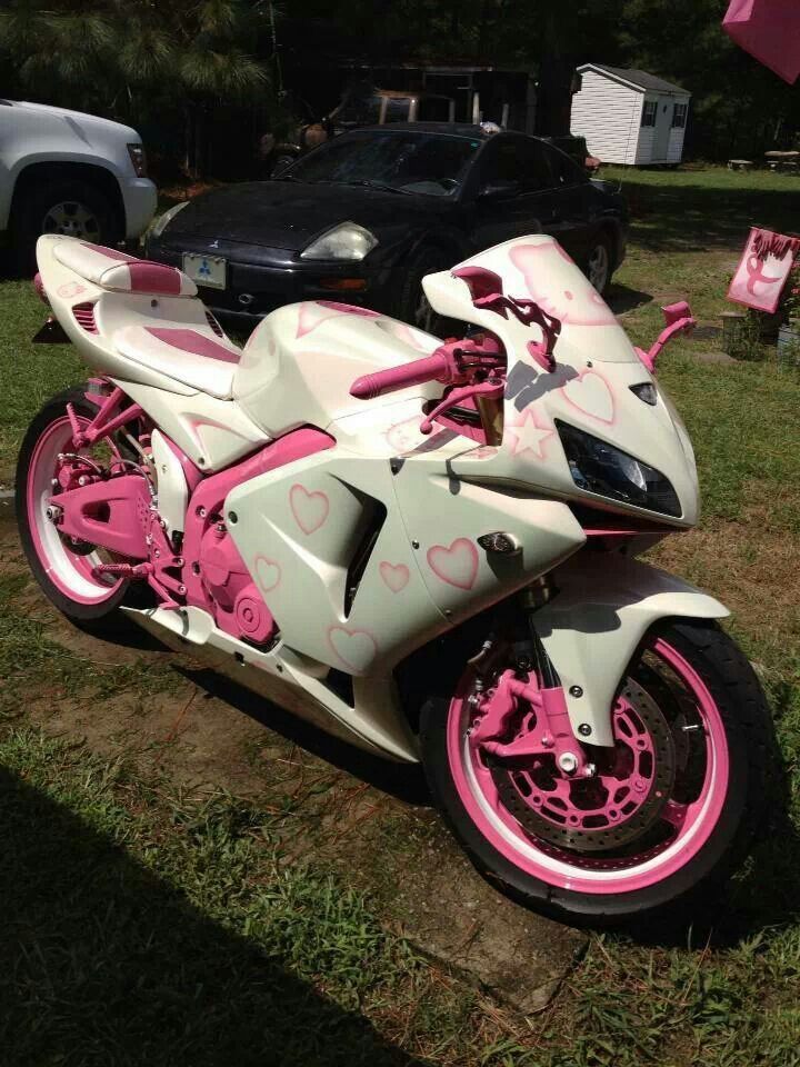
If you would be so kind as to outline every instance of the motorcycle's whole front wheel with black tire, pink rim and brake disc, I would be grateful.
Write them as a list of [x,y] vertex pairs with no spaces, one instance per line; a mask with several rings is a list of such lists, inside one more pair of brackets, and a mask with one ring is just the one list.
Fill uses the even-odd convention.
[[[584,745],[596,771],[582,780],[547,752],[503,760],[471,741],[476,682],[468,669],[449,699],[424,705],[423,760],[461,845],[510,896],[597,925],[678,914],[743,858],[766,814],[772,726],[752,668],[716,625],[647,636],[613,708],[614,748]],[[514,716],[501,741],[534,728],[530,707]]]

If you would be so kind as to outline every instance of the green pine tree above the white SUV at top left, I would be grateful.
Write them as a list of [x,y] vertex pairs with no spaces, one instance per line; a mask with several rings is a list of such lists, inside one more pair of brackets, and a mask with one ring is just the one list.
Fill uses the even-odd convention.
[[10,0],[0,51],[17,88],[137,124],[149,112],[184,118],[190,172],[204,163],[208,109],[268,91],[258,42],[264,21],[244,0]]

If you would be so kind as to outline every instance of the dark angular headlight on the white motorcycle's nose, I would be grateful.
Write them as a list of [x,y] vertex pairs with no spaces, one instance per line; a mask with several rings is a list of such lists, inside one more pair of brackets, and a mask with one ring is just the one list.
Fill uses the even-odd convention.
[[678,493],[660,471],[567,422],[557,419],[556,429],[579,489],[661,515],[682,513]]

